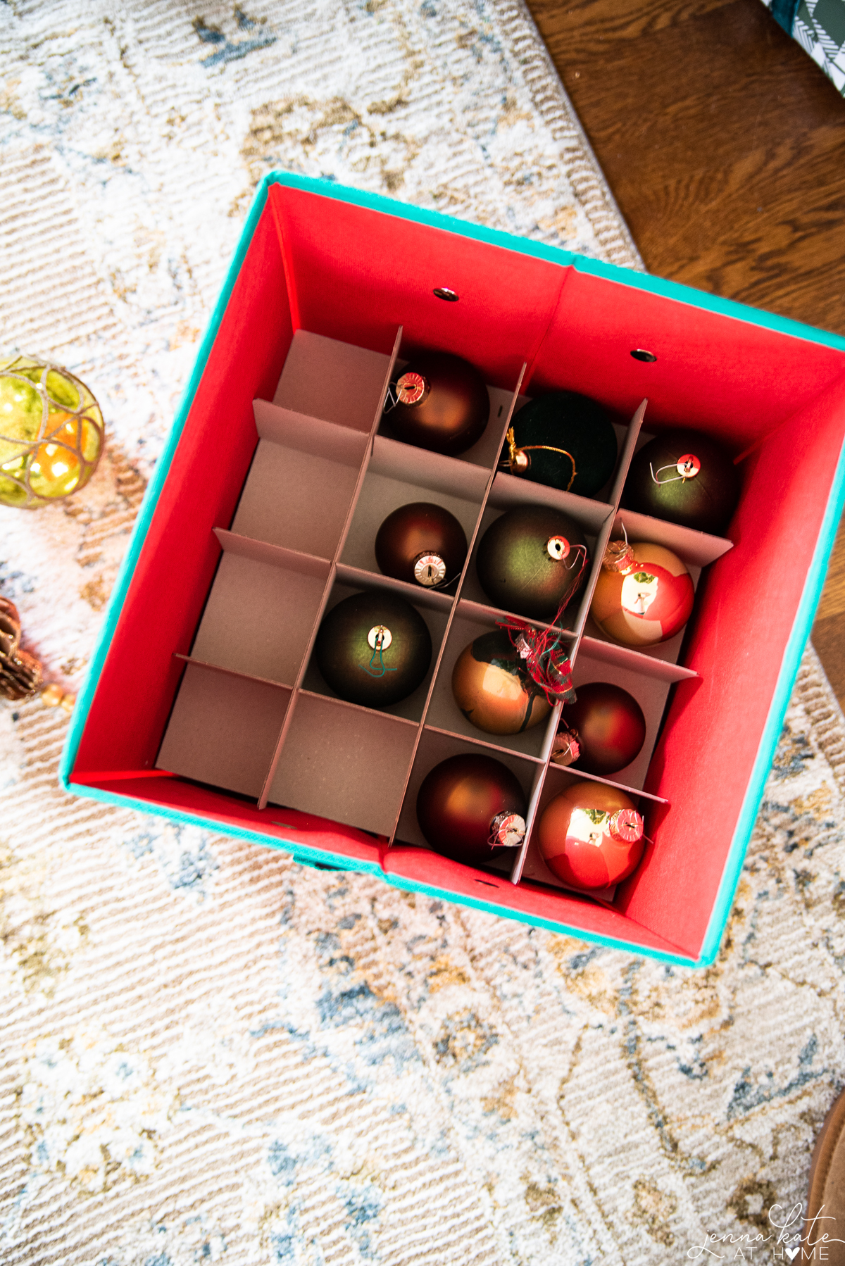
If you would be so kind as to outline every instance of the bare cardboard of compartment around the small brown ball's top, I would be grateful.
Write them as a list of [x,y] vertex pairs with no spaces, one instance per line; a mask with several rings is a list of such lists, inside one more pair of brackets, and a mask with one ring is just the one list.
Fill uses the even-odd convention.
[[376,436],[342,562],[379,573],[375,557],[379,528],[389,514],[414,501],[431,501],[454,514],[469,544],[488,477],[489,472],[479,466]]

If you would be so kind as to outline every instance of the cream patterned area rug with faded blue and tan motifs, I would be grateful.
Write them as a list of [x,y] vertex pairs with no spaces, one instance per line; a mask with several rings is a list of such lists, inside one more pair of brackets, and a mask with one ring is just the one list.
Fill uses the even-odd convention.
[[[639,266],[513,0],[11,0],[0,110],[3,337],[110,425],[75,501],[0,511],[71,690],[267,167]],[[63,729],[0,706],[0,1261],[663,1263],[801,1200],[845,1067],[811,648],[704,972],[68,799]]]

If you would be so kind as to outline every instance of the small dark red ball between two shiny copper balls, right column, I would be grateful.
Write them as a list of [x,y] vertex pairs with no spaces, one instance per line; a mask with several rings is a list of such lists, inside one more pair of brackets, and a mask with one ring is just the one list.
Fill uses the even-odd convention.
[[574,704],[564,704],[561,722],[575,734],[574,767],[607,777],[636,760],[646,738],[646,720],[633,695],[609,681],[578,687]]

